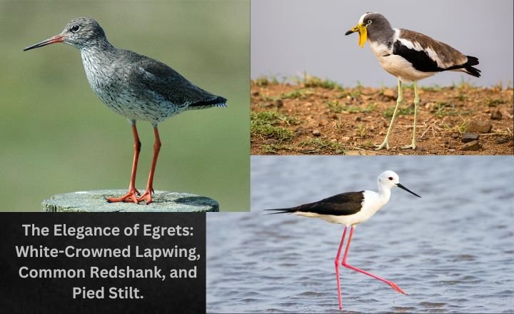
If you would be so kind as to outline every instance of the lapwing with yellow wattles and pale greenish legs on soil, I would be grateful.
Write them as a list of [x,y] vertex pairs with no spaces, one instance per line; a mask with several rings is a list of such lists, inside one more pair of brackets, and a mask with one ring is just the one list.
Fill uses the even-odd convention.
[[393,128],[398,104],[403,100],[402,82],[413,81],[414,83],[413,140],[410,145],[402,148],[415,149],[416,113],[420,101],[418,80],[442,71],[462,71],[471,76],[480,77],[480,70],[473,67],[478,64],[478,59],[474,56],[465,56],[447,44],[415,31],[393,29],[382,14],[376,12],[363,14],[358,24],[347,31],[345,35],[355,32],[359,33],[359,46],[363,48],[368,39],[371,50],[382,68],[398,78],[398,99],[393,118],[391,118],[383,143],[376,148],[377,151],[384,147],[389,149],[390,131]]

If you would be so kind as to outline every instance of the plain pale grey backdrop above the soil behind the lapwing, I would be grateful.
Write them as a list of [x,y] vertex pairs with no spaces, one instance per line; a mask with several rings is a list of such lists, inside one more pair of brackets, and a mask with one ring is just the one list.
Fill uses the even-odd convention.
[[420,85],[462,79],[478,86],[513,81],[512,0],[256,0],[251,1],[251,77],[307,74],[344,86],[395,86],[358,34],[345,36],[362,14],[377,11],[393,28],[419,31],[480,60],[481,78],[445,72]]

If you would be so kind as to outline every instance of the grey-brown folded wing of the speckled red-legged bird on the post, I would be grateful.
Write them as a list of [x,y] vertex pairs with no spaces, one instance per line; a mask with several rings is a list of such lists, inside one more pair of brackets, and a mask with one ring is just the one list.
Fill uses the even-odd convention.
[[187,106],[189,109],[226,106],[226,98],[204,91],[162,62],[141,56],[132,66],[135,70],[132,71],[133,79],[140,82],[146,91],[175,106]]

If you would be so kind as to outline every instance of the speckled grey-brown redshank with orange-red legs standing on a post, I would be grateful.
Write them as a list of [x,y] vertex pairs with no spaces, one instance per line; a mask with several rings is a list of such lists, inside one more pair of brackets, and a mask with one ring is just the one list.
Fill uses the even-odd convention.
[[[61,42],[80,50],[89,85],[96,96],[111,110],[128,118],[132,127],[134,155],[129,191],[118,198],[107,198],[107,201],[151,203],[153,175],[161,149],[158,123],[186,110],[226,107],[226,98],[204,91],[166,64],[115,48],[107,41],[104,29],[89,17],[69,21],[61,34],[26,47],[24,51]],[[150,174],[142,195],[136,189],[141,151],[137,120],[150,122],[155,135]]]

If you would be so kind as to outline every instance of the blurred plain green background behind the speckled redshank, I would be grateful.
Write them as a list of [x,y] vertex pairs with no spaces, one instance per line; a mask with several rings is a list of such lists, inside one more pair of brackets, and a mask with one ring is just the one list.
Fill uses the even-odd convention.
[[[22,51],[90,16],[114,46],[228,98],[228,108],[188,111],[159,125],[156,190],[249,211],[249,15],[249,0],[0,1],[0,209],[39,211],[56,193],[129,186],[131,128],[91,91],[79,51],[66,44]],[[142,191],[153,132],[146,121],[138,131]]]

